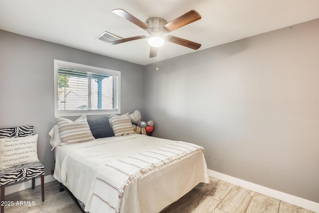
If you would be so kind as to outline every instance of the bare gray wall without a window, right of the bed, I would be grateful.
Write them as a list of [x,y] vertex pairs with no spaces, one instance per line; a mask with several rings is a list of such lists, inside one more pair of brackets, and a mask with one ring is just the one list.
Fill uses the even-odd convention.
[[318,36],[316,19],[145,66],[153,135],[202,145],[213,171],[319,203]]

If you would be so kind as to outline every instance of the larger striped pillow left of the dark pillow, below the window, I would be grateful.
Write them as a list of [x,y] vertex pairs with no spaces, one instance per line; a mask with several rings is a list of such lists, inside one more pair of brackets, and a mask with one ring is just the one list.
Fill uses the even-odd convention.
[[92,141],[95,139],[86,120],[86,115],[82,115],[75,121],[61,117],[55,119],[62,141],[60,145]]

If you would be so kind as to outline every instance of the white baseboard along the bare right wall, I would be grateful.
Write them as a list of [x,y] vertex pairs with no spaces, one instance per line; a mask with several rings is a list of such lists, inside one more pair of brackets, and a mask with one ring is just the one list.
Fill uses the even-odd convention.
[[279,191],[276,191],[273,189],[269,189],[267,187],[253,184],[253,183],[250,183],[248,181],[244,181],[244,180],[241,180],[238,178],[234,178],[232,176],[228,176],[228,175],[225,175],[225,174],[222,174],[219,172],[215,172],[213,170],[208,170],[208,174],[209,174],[209,176],[211,176],[213,178],[216,178],[216,179],[219,179],[219,180],[222,180],[222,181],[225,181],[225,182],[252,190],[254,192],[278,199],[280,201],[284,201],[284,202],[287,202],[289,204],[293,204],[293,205],[296,205],[298,207],[302,207],[304,209],[319,213],[319,204],[315,203],[313,201],[308,201],[308,200],[303,199],[303,198],[299,198],[299,197],[289,195],[289,194],[286,194],[283,192],[279,192]]

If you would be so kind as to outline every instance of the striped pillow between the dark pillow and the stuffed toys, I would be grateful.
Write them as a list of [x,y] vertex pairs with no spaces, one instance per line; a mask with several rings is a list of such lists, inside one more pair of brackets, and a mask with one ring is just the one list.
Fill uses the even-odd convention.
[[110,121],[115,136],[129,135],[134,133],[129,113],[121,116],[111,114]]

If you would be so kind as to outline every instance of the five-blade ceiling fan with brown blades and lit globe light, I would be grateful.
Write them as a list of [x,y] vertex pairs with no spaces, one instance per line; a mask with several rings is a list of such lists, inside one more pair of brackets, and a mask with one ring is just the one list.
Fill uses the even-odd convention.
[[139,20],[138,18],[134,17],[133,15],[131,15],[123,9],[113,9],[112,12],[138,25],[142,29],[146,30],[150,35],[139,35],[129,38],[118,39],[109,42],[110,44],[119,44],[127,41],[146,39],[148,44],[151,46],[150,58],[156,57],[158,55],[158,47],[160,47],[165,40],[195,50],[201,46],[201,44],[199,43],[175,37],[172,35],[167,35],[166,37],[162,36],[163,33],[171,32],[175,29],[185,26],[186,24],[199,20],[201,16],[195,10],[190,10],[168,23],[165,19],[160,17],[148,18],[144,23],[143,21]]

